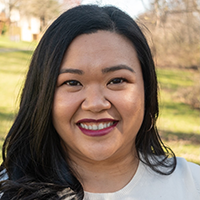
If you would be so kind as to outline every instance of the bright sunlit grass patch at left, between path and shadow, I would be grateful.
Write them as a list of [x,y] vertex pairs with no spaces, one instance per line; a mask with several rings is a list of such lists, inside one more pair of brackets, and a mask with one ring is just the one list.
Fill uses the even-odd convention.
[[26,52],[0,54],[1,107],[8,108],[10,112],[15,109],[16,97],[24,82],[29,59],[30,53]]

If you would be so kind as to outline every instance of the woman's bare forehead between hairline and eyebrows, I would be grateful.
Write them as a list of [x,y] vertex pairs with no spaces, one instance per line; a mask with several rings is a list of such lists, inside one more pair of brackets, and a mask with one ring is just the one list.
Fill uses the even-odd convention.
[[132,42],[124,36],[97,31],[76,37],[69,45],[62,67],[102,66],[137,64],[139,61]]

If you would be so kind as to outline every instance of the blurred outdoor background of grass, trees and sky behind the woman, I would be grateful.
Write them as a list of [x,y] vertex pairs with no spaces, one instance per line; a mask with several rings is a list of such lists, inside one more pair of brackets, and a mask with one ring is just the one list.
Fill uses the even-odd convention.
[[67,9],[91,3],[115,5],[138,22],[156,63],[160,135],[200,164],[200,0],[0,0],[0,149],[44,31]]

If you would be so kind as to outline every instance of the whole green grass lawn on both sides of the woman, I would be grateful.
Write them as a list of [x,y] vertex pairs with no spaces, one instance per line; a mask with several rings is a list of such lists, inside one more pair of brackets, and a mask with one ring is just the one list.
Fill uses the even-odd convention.
[[[13,43],[0,37],[1,48],[22,49],[0,51],[0,149],[18,109],[18,97],[36,43]],[[26,49],[26,50],[25,50]],[[181,69],[158,69],[160,117],[158,129],[167,146],[177,156],[200,164],[200,112],[176,98],[180,88],[194,84],[199,73]],[[1,154],[0,154],[1,160]]]

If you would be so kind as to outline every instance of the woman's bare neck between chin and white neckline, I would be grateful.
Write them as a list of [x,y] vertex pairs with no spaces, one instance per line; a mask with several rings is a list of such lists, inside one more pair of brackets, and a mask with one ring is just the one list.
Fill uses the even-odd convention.
[[115,160],[86,161],[73,159],[71,165],[84,191],[92,193],[116,192],[126,186],[135,175],[139,160],[126,155]]

